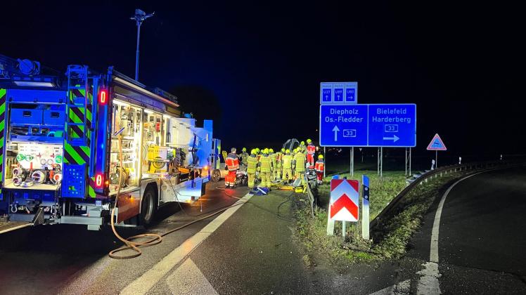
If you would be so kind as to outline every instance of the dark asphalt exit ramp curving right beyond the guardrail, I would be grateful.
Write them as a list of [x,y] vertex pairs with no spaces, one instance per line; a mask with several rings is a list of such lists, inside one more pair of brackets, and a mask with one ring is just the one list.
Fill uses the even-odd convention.
[[[440,190],[408,257],[425,263]],[[438,282],[442,294],[526,294],[526,169],[479,173],[457,183],[442,207]],[[416,277],[418,281],[418,277]],[[413,287],[417,284],[413,279]],[[416,290],[416,287],[413,288]]]

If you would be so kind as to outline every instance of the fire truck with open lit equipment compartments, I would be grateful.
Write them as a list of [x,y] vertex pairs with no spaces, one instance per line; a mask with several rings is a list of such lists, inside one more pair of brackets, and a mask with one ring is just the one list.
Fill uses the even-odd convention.
[[0,55],[0,215],[9,221],[148,225],[159,206],[204,195],[218,149],[211,120],[196,126],[177,97],[113,67],[60,73]]

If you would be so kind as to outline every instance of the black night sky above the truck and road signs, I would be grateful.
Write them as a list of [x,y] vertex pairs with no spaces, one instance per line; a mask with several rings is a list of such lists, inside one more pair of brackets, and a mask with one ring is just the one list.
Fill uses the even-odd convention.
[[141,29],[139,81],[214,119],[224,147],[317,141],[319,83],[358,81],[359,103],[417,104],[417,155],[435,133],[451,155],[524,152],[519,7],[252,2],[4,1],[0,53],[133,77],[129,17],[141,8],[155,16]]

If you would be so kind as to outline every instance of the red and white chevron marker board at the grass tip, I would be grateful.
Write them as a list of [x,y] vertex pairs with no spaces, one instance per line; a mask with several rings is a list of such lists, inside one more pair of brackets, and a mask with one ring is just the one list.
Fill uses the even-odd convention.
[[330,216],[333,221],[358,221],[359,183],[347,179],[331,180]]

